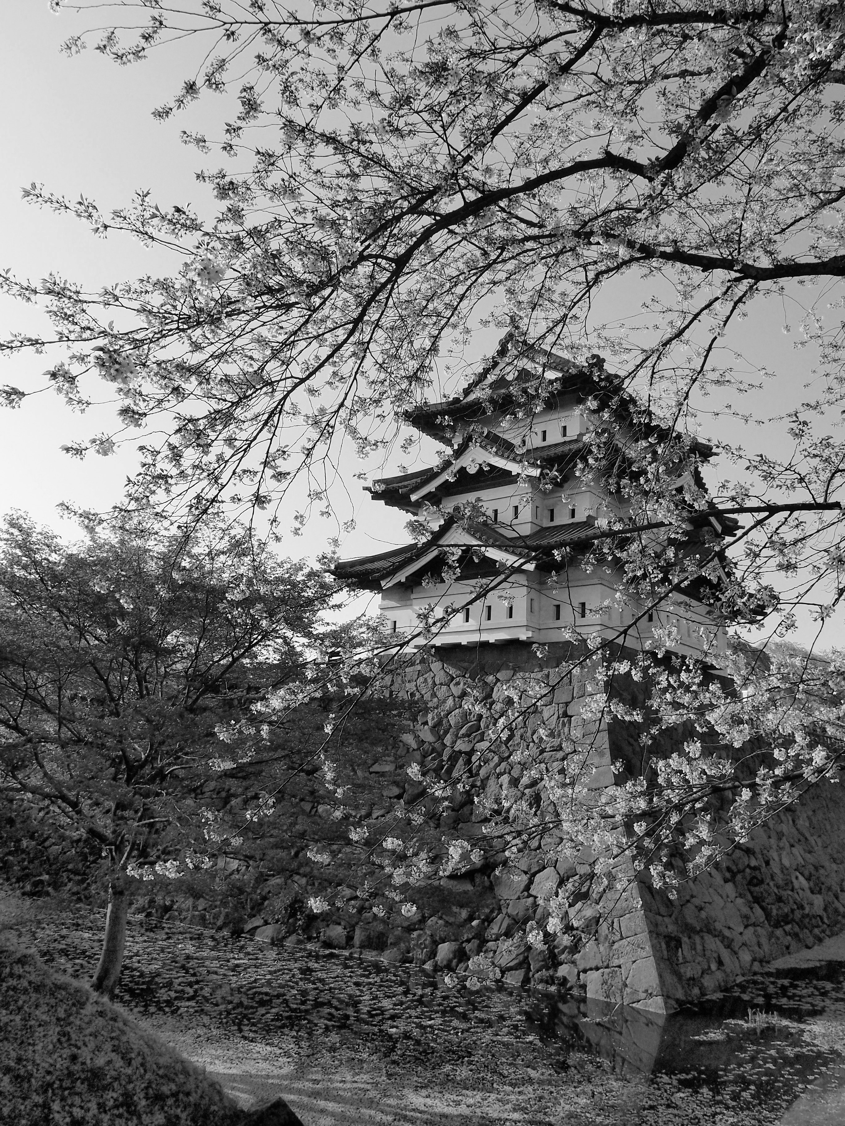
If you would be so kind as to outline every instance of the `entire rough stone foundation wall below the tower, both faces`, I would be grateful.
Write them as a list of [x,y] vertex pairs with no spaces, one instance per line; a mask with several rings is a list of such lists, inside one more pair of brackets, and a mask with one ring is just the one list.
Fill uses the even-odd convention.
[[[623,891],[612,891],[587,846],[560,858],[554,777],[578,770],[601,801],[613,785],[611,762],[637,756],[630,729],[608,730],[582,715],[592,672],[586,664],[561,671],[579,655],[586,651],[568,644],[539,655],[514,643],[424,652],[407,667],[388,667],[382,697],[356,713],[357,726],[332,752],[343,798],[308,766],[326,712],[303,713],[290,745],[291,765],[304,766],[292,771],[260,833],[240,856],[220,856],[213,887],[158,892],[136,909],[232,926],[259,940],[321,939],[436,972],[567,988],[658,1012],[845,929],[839,784],[810,790],[715,870],[683,884],[675,901],[635,879],[625,860],[615,872]],[[501,739],[496,724],[514,709],[519,722]],[[439,798],[415,780],[417,769],[445,786]],[[244,801],[237,788],[226,794],[230,785],[219,784],[221,807]],[[550,824],[526,834],[530,819]],[[366,840],[354,844],[361,830]],[[438,874],[444,832],[474,852],[460,874]],[[402,863],[397,840],[428,849],[421,883],[392,879]],[[27,872],[55,865],[47,856],[56,846],[48,846],[28,858]],[[12,878],[21,864],[17,852],[6,857]],[[314,893],[329,904],[318,915],[308,908]],[[544,927],[552,895],[566,899],[568,924],[546,933],[544,948],[532,947],[526,927]],[[416,910],[403,912],[406,900]]]

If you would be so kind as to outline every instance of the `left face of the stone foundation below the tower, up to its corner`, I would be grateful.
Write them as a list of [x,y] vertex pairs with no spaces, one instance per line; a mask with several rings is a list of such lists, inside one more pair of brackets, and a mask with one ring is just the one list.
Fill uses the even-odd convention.
[[[546,781],[575,762],[599,795],[612,781],[607,732],[581,716],[589,670],[561,673],[586,651],[531,646],[419,654],[408,667],[385,669],[381,701],[370,720],[338,750],[337,781],[348,784],[343,805],[319,776],[297,776],[254,849],[260,861],[220,857],[219,881],[238,892],[239,908],[216,908],[214,896],[142,902],[139,909],[212,926],[234,926],[264,941],[321,939],[354,946],[390,962],[412,962],[434,972],[496,977],[514,986],[563,988],[596,998],[660,1010],[661,986],[628,874],[624,894],[606,895],[589,848],[559,857],[554,825],[524,838],[526,816],[554,821]],[[492,732],[501,715],[523,711],[502,742]],[[374,722],[383,711],[383,722]],[[443,787],[434,797],[412,777]],[[354,796],[352,792],[354,790]],[[367,830],[352,846],[349,830]],[[471,859],[460,873],[438,876],[446,859],[444,833],[465,842]],[[301,843],[297,842],[297,837]],[[322,865],[309,859],[319,838]],[[421,883],[395,884],[390,869],[401,851],[426,846],[430,872]],[[508,846],[518,840],[515,855]],[[305,909],[319,893],[329,904],[314,917]],[[548,901],[562,894],[567,929],[544,948],[526,941],[530,922],[543,927]],[[416,910],[401,910],[411,901]]]

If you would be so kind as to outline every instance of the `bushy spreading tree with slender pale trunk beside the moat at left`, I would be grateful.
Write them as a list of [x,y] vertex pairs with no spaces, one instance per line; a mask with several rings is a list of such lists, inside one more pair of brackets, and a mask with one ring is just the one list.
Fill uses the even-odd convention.
[[[221,739],[237,741],[251,705],[302,677],[314,646],[337,644],[321,617],[331,597],[320,572],[275,558],[242,528],[207,528],[187,545],[149,527],[91,529],[69,547],[7,519],[0,787],[98,846],[104,992],[119,975],[134,882],[208,866],[226,840],[203,802],[204,784],[239,758]],[[270,738],[256,735],[254,757]],[[241,826],[273,808],[269,778],[268,767],[251,778]]]

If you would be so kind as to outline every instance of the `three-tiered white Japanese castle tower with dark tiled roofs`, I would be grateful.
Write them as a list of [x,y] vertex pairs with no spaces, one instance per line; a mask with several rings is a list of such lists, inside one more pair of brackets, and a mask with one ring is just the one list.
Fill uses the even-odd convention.
[[[658,628],[668,631],[667,647],[717,658],[726,632],[710,583],[709,592],[700,580],[649,613],[647,602],[637,607],[616,598],[612,565],[581,565],[603,538],[604,521],[626,515],[611,475],[595,472],[595,457],[587,468],[595,449],[590,435],[601,428],[606,444],[608,408],[619,481],[625,440],[634,426],[641,435],[643,423],[634,423],[634,401],[605,373],[603,360],[578,365],[533,348],[517,350],[505,338],[460,396],[407,412],[411,426],[447,447],[441,464],[370,486],[375,500],[421,521],[427,536],[338,563],[335,575],[380,591],[380,609],[398,635],[418,629],[420,611],[448,618],[433,641],[413,638],[412,646],[549,643],[570,638],[572,629],[616,636],[628,626],[629,646],[647,643]],[[702,485],[699,465],[712,453],[704,443],[687,448],[676,467],[678,488],[685,476]],[[691,512],[687,545],[705,534],[712,543],[713,533],[721,538],[736,527],[730,518]]]

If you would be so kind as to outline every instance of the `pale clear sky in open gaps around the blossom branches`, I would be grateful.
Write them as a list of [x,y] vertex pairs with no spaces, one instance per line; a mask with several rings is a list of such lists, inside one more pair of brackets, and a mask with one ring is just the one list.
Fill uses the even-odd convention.
[[[47,0],[3,0],[2,7],[0,268],[32,278],[52,270],[89,286],[171,270],[172,259],[159,257],[127,236],[100,240],[73,218],[27,205],[21,188],[35,181],[72,199],[82,194],[95,199],[104,213],[128,204],[140,188],[149,188],[163,205],[189,202],[202,207],[207,189],[195,182],[194,173],[203,158],[183,146],[178,133],[206,124],[213,135],[214,123],[221,117],[220,101],[210,99],[192,110],[192,117],[159,124],[151,109],[185,77],[176,55],[153,52],[151,60],[126,68],[94,51],[69,59],[60,54],[59,46],[80,29],[81,21],[73,12],[53,15]],[[207,115],[205,122],[203,115]],[[214,166],[219,158],[207,160]],[[800,401],[808,360],[791,350],[781,322],[782,313],[774,303],[760,305],[741,329],[742,349],[783,374],[780,395]],[[11,331],[47,329],[46,321],[30,307],[0,297],[3,338]],[[490,341],[480,347],[487,350]],[[46,357],[6,358],[0,384],[33,390],[41,385],[41,373],[48,366]],[[106,385],[96,391],[97,397],[108,399]],[[756,403],[735,405],[771,413],[772,394],[767,391]],[[55,506],[60,501],[98,510],[117,501],[133,467],[132,456],[90,454],[80,462],[60,450],[64,443],[108,430],[110,418],[107,403],[74,414],[52,392],[26,401],[20,410],[0,410],[0,512],[21,508],[37,521],[72,535],[72,528],[59,521]],[[782,440],[779,428],[746,429],[724,417],[712,425],[705,421],[704,429],[717,440],[727,438],[748,447],[758,443],[775,446]],[[397,454],[393,468],[401,459]],[[361,482],[352,479],[359,468],[353,457],[345,458],[345,483],[358,519],[358,530],[343,542],[346,557],[383,551],[408,538],[403,531],[408,517],[371,501]],[[353,512],[347,508],[343,518],[349,515]],[[291,555],[317,554],[331,530],[327,521],[314,518],[301,539],[288,537],[282,549]],[[800,640],[809,641],[810,636],[802,631]],[[844,642],[840,623],[826,631],[826,645]]]

